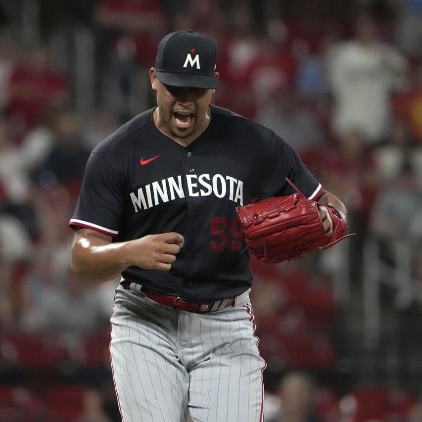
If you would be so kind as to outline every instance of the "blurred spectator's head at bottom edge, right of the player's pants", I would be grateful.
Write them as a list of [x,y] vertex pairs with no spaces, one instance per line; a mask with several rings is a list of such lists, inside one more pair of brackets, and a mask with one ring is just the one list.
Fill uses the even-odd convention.
[[273,411],[274,415],[268,422],[320,421],[314,408],[315,393],[314,381],[309,375],[301,372],[285,375],[277,392],[280,399],[279,411]]

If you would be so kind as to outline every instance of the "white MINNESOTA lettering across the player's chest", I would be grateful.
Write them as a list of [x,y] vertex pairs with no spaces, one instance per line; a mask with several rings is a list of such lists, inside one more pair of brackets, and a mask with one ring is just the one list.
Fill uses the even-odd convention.
[[[215,174],[185,175],[188,196],[209,196],[217,198],[228,197],[229,200],[243,205],[243,182],[232,176]],[[152,182],[130,194],[135,212],[141,209],[151,208],[160,203],[174,201],[186,196],[183,187],[182,176],[168,177],[160,181]]]

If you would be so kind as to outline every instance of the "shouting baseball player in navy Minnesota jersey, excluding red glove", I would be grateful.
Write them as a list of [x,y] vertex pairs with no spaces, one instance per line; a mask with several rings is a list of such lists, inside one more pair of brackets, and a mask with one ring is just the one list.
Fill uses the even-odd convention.
[[110,343],[122,420],[263,421],[265,362],[235,208],[293,193],[288,177],[346,210],[272,131],[210,104],[209,38],[168,34],[149,75],[157,107],[95,147],[69,223],[74,271],[122,277]]

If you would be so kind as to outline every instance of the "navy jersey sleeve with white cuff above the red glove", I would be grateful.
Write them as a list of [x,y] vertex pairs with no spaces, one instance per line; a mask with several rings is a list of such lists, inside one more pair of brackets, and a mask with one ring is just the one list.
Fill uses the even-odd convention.
[[295,193],[294,188],[284,179],[287,177],[308,199],[318,198],[324,191],[308,168],[302,163],[293,148],[277,135],[273,135],[276,142],[276,172],[280,175],[281,190],[279,195]]

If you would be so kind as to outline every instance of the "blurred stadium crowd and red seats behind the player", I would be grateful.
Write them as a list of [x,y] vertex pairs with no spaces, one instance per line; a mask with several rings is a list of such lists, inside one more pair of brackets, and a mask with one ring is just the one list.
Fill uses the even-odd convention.
[[0,421],[120,420],[118,280],[72,274],[67,225],[187,28],[218,46],[213,102],[290,143],[356,233],[252,262],[265,421],[422,421],[422,0],[0,1]]

